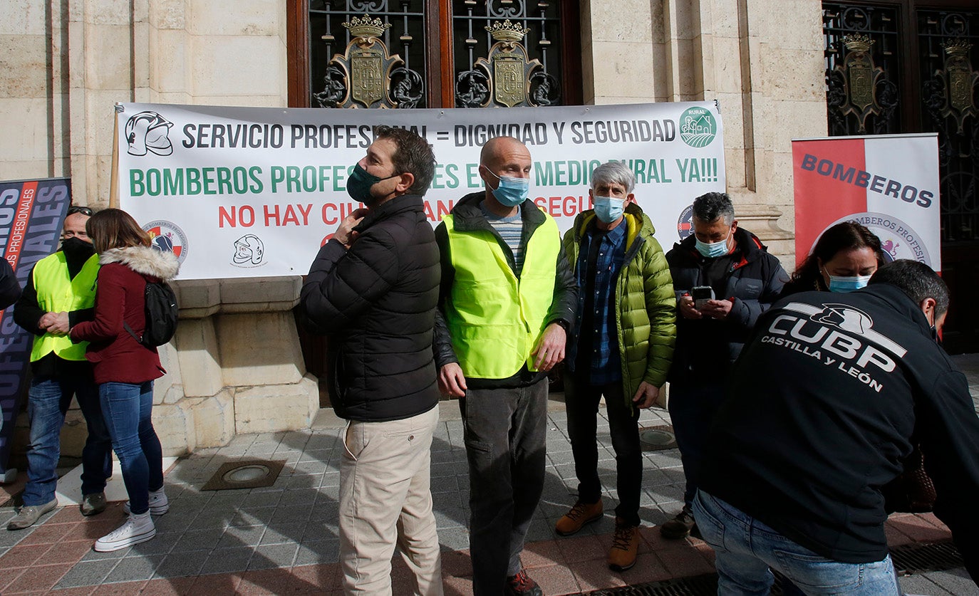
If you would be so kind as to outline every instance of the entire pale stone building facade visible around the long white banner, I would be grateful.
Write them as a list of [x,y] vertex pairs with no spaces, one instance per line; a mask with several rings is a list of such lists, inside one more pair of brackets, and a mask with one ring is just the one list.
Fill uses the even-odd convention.
[[[287,106],[286,20],[279,0],[7,0],[0,180],[70,175],[76,202],[106,206],[116,102]],[[792,268],[790,141],[826,133],[819,3],[583,0],[581,23],[585,103],[720,102],[738,219]],[[178,286],[156,390],[166,451],[308,426],[299,278]]]

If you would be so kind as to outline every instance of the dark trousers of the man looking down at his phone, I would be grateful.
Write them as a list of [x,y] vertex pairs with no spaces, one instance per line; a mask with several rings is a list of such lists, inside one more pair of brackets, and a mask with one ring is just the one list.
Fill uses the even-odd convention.
[[724,398],[723,383],[712,385],[670,384],[670,421],[673,423],[679,460],[683,464],[686,487],[683,503],[689,507],[697,493],[701,461],[707,446],[708,431]]

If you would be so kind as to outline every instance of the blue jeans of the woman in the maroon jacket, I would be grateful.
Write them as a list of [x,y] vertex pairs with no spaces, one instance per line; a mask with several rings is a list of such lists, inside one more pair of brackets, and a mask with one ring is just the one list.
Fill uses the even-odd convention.
[[99,386],[113,449],[134,514],[150,509],[150,490],[163,488],[163,447],[153,430],[153,382]]

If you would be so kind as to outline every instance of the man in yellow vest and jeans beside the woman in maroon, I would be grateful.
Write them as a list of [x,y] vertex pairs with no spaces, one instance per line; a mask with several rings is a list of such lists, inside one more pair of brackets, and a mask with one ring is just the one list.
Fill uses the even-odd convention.
[[14,320],[34,334],[30,352],[33,379],[27,394],[27,484],[23,507],[7,529],[30,527],[58,506],[55,489],[61,428],[72,394],[77,397],[88,426],[81,453],[81,515],[91,516],[106,509],[106,480],[112,476],[112,439],[102,417],[91,365],[85,359],[88,343],[73,344],[68,337],[72,325],[93,316],[99,256],[85,233],[85,222],[91,214],[86,206],[69,207],[61,250],[37,261],[15,306]]

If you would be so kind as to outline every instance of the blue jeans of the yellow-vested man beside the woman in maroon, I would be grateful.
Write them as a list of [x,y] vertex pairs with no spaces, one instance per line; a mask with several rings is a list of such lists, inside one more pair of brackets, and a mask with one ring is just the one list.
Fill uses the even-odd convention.
[[88,426],[88,437],[81,450],[82,495],[102,492],[106,480],[113,475],[112,442],[95,384],[79,377],[34,378],[27,393],[30,444],[27,446],[24,505],[43,505],[55,498],[61,429],[72,394],[78,398],[78,406]]

